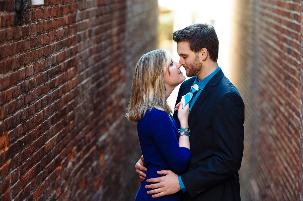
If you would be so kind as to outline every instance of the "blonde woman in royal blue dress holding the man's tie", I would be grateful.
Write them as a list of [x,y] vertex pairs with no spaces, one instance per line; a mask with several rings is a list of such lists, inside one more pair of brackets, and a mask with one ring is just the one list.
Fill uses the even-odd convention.
[[157,174],[158,170],[182,173],[190,161],[189,106],[179,107],[178,119],[183,132],[178,134],[177,123],[166,102],[172,90],[185,80],[180,67],[167,50],[153,50],[144,54],[135,67],[127,117],[131,122],[138,122],[138,136],[147,168],[146,178],[141,182],[135,201],[181,200],[181,191],[152,198],[151,194],[147,194],[150,189],[145,189],[148,178],[161,176]]

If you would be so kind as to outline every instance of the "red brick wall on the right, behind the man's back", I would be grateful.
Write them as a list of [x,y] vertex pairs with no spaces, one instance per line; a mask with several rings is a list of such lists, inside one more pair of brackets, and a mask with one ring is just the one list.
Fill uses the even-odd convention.
[[243,200],[302,200],[302,1],[236,1],[232,66],[245,102]]

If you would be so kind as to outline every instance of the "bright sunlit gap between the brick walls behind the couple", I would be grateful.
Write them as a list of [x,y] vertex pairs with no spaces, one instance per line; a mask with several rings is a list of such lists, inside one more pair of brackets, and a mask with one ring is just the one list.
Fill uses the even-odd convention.
[[[208,23],[215,27],[219,39],[218,65],[229,78],[231,17],[233,15],[233,0],[158,0],[159,27],[158,48],[167,49],[172,53],[173,60],[179,62],[177,44],[172,40],[172,32],[183,29],[195,23]],[[183,75],[186,71],[181,67]],[[186,79],[188,77],[185,75]],[[168,104],[172,107],[178,95],[180,85],[168,97]]]

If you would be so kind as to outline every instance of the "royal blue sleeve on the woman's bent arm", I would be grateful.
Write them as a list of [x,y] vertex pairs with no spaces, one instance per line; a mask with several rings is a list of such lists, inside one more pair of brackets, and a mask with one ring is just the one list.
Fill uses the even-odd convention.
[[190,162],[191,152],[188,148],[179,147],[166,112],[152,111],[148,116],[147,130],[168,166],[174,171],[184,172]]

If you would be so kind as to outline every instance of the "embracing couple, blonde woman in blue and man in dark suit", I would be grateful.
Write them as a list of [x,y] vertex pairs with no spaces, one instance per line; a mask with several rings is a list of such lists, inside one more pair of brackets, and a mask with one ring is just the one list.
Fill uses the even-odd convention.
[[[218,66],[215,29],[193,24],[173,39],[179,63],[167,50],[153,50],[135,67],[127,112],[138,122],[143,154],[135,200],[238,201],[244,103]],[[181,66],[192,77],[185,82]],[[166,99],[180,83],[171,116]]]

